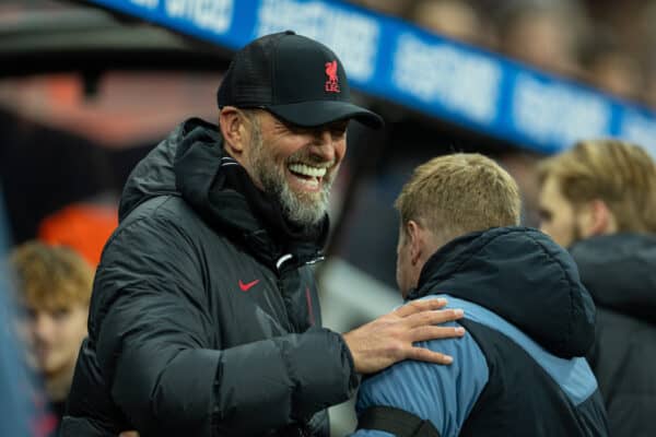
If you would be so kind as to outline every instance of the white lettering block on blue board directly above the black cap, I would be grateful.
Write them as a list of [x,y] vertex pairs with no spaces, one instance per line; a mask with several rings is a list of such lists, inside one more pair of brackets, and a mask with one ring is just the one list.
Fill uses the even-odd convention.
[[321,42],[344,63],[350,79],[367,81],[376,67],[380,25],[374,17],[321,1],[263,0],[257,36],[292,29]]

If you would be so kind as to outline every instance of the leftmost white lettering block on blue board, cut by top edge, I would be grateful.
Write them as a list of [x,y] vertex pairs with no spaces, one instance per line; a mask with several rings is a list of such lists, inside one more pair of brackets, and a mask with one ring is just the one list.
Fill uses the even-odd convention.
[[230,28],[233,0],[166,0],[166,14],[187,20],[198,28],[223,34]]

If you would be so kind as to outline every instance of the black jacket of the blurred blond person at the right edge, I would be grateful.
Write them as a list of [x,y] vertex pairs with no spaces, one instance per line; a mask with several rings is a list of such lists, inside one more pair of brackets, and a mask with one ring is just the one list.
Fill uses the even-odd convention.
[[610,435],[656,435],[656,236],[616,234],[570,251],[597,306],[588,354]]

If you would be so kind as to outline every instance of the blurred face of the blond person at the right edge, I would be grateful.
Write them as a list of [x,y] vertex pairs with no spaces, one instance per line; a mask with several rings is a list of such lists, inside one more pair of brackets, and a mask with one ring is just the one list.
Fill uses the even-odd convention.
[[562,194],[560,184],[553,176],[547,177],[540,190],[540,231],[563,247],[581,238],[576,211]]

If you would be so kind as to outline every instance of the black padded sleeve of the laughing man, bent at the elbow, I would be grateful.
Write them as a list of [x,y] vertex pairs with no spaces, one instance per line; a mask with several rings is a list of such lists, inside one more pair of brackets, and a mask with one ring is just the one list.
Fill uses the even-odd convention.
[[219,328],[197,250],[172,223],[141,221],[114,237],[98,268],[90,338],[142,435],[255,435],[351,395],[352,358],[329,330],[210,349]]

